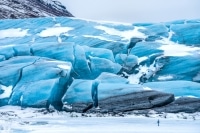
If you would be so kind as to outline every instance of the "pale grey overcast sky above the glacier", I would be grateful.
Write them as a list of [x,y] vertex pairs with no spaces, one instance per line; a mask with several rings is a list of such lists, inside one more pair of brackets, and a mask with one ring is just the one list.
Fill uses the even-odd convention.
[[163,22],[200,18],[200,0],[59,0],[79,18]]

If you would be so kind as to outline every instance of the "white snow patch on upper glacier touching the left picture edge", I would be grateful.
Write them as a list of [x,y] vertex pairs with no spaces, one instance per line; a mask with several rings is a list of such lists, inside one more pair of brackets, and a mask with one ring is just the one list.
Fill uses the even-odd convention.
[[22,30],[21,28],[17,29],[6,29],[0,30],[0,39],[7,37],[25,37],[28,36],[28,29]]

